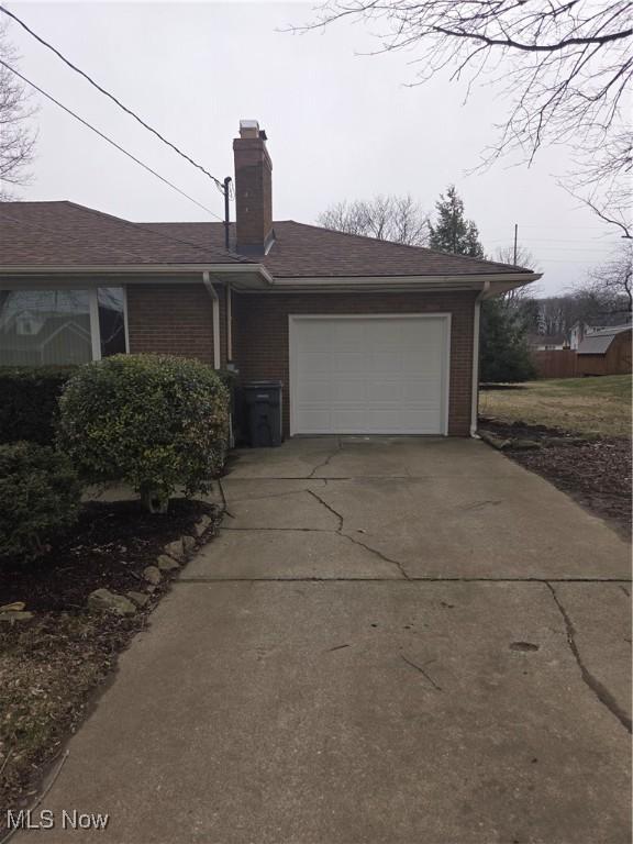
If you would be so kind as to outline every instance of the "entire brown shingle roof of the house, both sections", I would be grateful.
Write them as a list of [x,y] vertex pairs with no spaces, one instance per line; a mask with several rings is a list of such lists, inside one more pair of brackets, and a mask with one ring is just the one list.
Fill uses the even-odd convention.
[[[525,273],[492,260],[276,222],[267,255],[224,248],[223,223],[132,223],[74,202],[0,202],[2,266],[264,264],[279,278],[480,276]],[[231,226],[234,238],[234,225]]]

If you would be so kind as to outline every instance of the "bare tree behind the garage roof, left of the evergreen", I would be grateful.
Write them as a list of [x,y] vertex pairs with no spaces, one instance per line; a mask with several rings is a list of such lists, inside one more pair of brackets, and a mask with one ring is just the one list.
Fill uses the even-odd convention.
[[409,246],[423,246],[429,240],[429,215],[409,195],[336,202],[320,214],[318,222],[337,232],[362,234]]

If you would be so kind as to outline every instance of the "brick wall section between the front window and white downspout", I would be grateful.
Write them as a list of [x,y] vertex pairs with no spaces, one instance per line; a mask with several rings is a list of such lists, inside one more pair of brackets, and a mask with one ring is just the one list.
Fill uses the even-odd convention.
[[130,285],[127,331],[132,353],[197,357],[213,364],[212,302],[202,282]]

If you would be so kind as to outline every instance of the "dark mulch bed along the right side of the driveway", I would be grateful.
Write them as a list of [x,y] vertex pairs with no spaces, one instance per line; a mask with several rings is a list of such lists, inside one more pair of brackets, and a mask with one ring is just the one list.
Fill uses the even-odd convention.
[[[631,441],[588,437],[525,422],[480,419],[479,426],[510,443],[503,453],[546,478],[625,538],[631,537]],[[525,441],[538,447],[525,448]],[[523,447],[521,447],[523,445]]]

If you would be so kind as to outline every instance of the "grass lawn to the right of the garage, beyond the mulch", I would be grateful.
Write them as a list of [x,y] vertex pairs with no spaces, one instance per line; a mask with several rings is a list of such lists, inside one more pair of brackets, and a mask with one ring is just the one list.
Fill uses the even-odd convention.
[[631,376],[559,378],[481,390],[479,414],[580,434],[630,436]]

